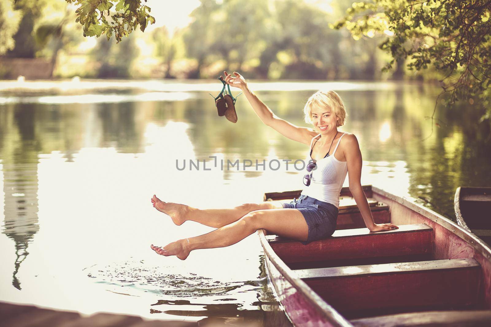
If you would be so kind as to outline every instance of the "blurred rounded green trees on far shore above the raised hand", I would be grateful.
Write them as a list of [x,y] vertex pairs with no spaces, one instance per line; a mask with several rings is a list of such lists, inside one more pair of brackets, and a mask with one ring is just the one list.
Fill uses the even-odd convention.
[[259,78],[377,77],[383,52],[376,44],[328,27],[347,6],[351,0],[332,1],[327,13],[296,0],[201,0],[184,32],[187,54],[198,66],[189,76],[227,67]]

